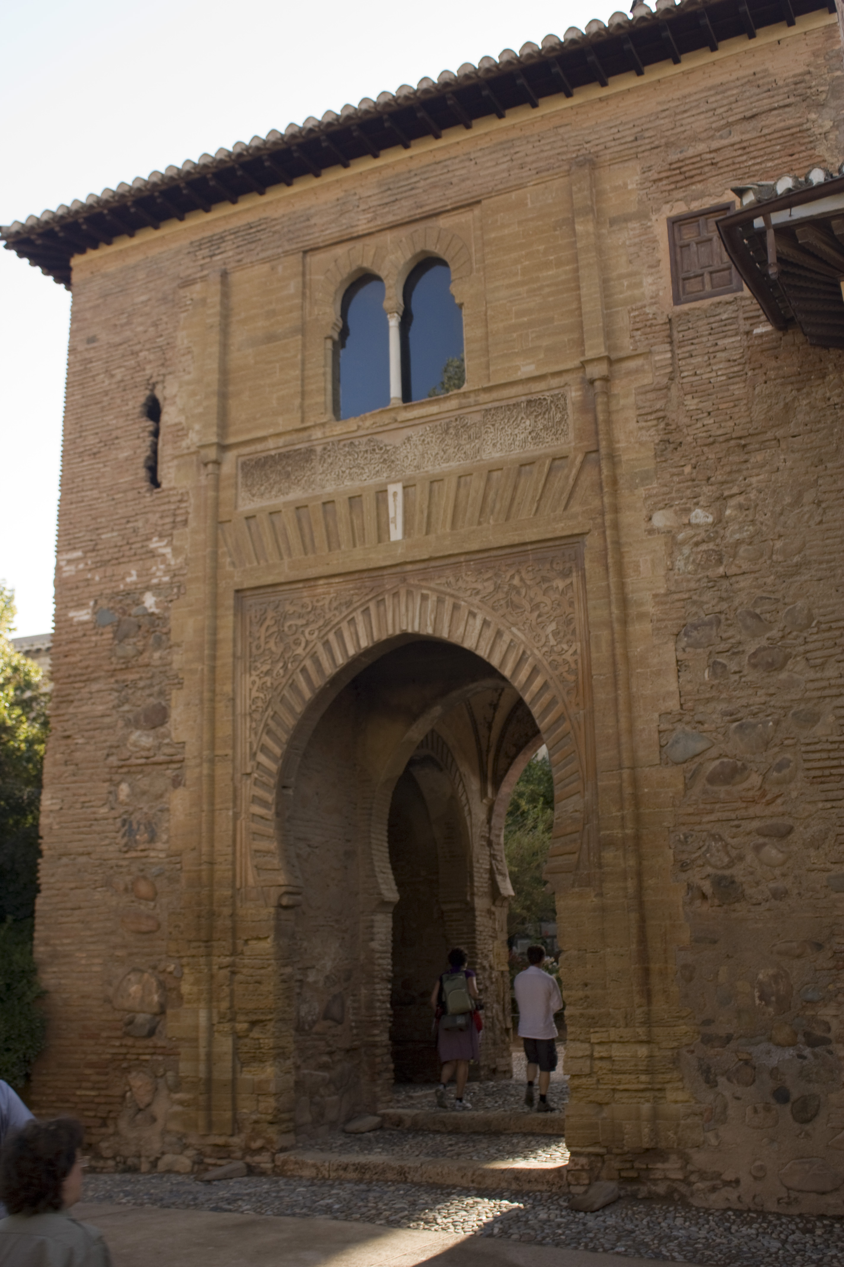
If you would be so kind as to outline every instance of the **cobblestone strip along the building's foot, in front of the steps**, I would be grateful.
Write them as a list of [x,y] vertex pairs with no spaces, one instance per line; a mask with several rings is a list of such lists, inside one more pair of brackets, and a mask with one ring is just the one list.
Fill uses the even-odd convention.
[[548,1194],[483,1196],[415,1183],[251,1177],[199,1183],[175,1175],[89,1175],[86,1201],[320,1216],[392,1228],[510,1237],[568,1249],[716,1267],[844,1267],[844,1220],[617,1201],[577,1214]]

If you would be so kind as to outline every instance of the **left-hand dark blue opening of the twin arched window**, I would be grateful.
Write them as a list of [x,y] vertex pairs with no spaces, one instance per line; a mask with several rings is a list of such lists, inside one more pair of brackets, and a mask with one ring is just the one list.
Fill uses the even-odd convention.
[[383,295],[383,281],[372,272],[353,281],[343,295],[339,383],[335,375],[340,418],[357,418],[390,404],[390,329]]

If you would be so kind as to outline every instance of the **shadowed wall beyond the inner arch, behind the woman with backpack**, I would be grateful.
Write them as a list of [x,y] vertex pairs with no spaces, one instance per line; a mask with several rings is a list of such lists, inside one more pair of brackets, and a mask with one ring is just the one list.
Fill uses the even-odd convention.
[[[472,1076],[509,1077],[511,1062],[510,976],[506,910],[510,884],[490,834],[490,749],[512,722],[515,692],[481,689],[443,715],[399,779],[390,808],[390,863],[399,891],[394,912],[394,1069],[399,1081],[433,1081],[431,984],[445,952],[462,946],[478,974],[485,1038]],[[529,716],[529,715],[528,715]],[[531,722],[534,746],[539,741]],[[411,815],[410,806],[415,806]],[[425,840],[420,841],[420,825]],[[419,862],[407,843],[420,848]],[[426,873],[424,884],[421,872]],[[433,934],[433,935],[431,935]],[[435,945],[434,953],[428,948]],[[423,1073],[425,1078],[423,1078]]]

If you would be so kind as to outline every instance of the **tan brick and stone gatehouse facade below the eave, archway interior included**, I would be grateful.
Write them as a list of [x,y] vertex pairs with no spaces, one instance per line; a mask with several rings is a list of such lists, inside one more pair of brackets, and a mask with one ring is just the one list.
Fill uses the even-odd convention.
[[[544,742],[569,1186],[843,1213],[844,353],[740,281],[677,303],[668,232],[844,157],[836,19],[793,8],[67,231],[34,1092],[104,1168],[270,1173],[430,1076],[456,940],[507,1076],[504,813]],[[658,9],[634,46],[698,11]],[[431,119],[458,77],[423,85]],[[395,305],[428,256],[466,385],[337,419],[345,289]]]

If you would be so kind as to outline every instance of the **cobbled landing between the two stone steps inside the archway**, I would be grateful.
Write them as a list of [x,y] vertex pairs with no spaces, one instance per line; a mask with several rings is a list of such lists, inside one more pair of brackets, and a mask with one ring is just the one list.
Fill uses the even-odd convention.
[[562,1136],[554,1135],[440,1135],[429,1130],[373,1130],[368,1135],[335,1133],[318,1140],[313,1148],[339,1156],[458,1157],[473,1162],[559,1162],[561,1166],[568,1161]]

